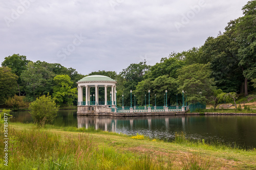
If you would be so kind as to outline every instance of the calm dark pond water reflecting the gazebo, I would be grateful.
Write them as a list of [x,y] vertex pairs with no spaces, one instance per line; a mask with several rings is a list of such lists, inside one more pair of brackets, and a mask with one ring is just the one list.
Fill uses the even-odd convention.
[[[12,112],[10,122],[33,122],[28,112]],[[220,140],[256,148],[256,116],[157,116],[157,117],[77,117],[76,110],[61,110],[56,126],[90,127],[128,135],[144,134],[173,140],[175,132],[187,138]]]

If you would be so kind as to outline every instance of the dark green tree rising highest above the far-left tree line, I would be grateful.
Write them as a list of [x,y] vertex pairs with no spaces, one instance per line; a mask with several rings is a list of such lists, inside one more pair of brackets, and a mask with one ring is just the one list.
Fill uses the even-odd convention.
[[13,54],[12,56],[5,57],[5,60],[2,62],[2,66],[7,66],[12,69],[12,72],[18,76],[17,85],[18,85],[18,94],[20,96],[20,74],[26,69],[29,60],[26,56],[20,56],[19,54]]

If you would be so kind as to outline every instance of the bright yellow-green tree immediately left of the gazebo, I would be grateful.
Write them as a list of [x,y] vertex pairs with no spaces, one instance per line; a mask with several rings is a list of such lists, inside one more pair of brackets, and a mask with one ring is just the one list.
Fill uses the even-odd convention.
[[53,97],[58,104],[72,105],[77,98],[77,88],[71,88],[73,82],[68,75],[57,75],[54,79]]

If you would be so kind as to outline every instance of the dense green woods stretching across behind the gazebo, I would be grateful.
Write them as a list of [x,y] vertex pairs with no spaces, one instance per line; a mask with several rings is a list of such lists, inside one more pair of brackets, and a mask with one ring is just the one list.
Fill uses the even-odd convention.
[[[256,1],[249,1],[242,10],[242,17],[230,20],[224,33],[208,37],[202,46],[170,53],[152,66],[146,61],[132,63],[119,74],[99,68],[81,75],[58,63],[34,62],[19,54],[5,57],[0,67],[0,106],[20,107],[23,101],[17,96],[32,102],[44,94],[53,96],[60,106],[77,105],[76,82],[90,75],[117,81],[118,106],[122,98],[125,106],[130,105],[130,90],[138,106],[145,105],[145,95],[147,99],[150,95],[151,106],[162,106],[165,94],[167,105],[176,105],[177,99],[181,105],[182,90],[187,103],[217,105],[234,100],[238,94],[248,96],[256,89]],[[99,94],[99,101],[103,101],[103,88]]]

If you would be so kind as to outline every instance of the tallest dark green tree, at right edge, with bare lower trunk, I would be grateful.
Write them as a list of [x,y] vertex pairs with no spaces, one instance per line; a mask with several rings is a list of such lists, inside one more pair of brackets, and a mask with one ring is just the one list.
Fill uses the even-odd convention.
[[244,16],[231,20],[225,30],[239,45],[239,66],[245,77],[245,96],[247,96],[247,81],[256,78],[256,1],[249,1],[242,10]]

